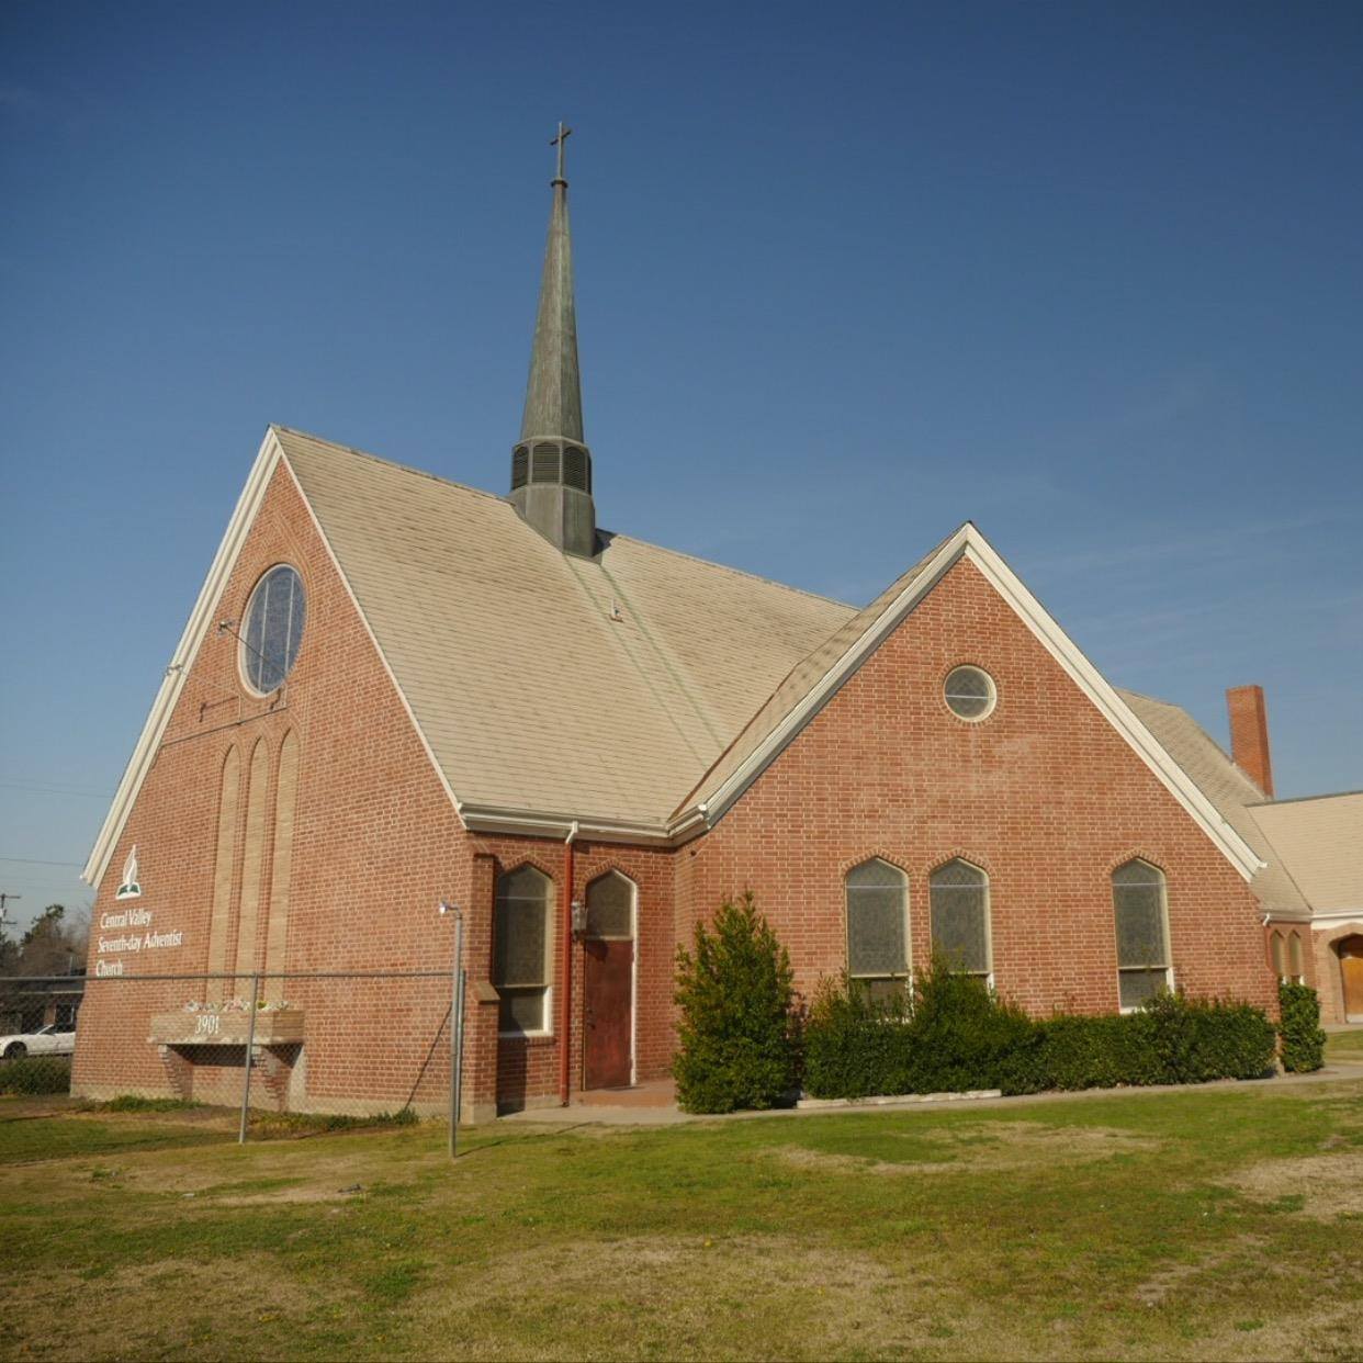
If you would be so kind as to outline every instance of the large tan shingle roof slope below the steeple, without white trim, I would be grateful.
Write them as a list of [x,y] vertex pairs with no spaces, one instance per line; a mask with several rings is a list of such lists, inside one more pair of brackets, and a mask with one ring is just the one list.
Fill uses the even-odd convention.
[[[273,428],[462,804],[664,829],[851,607]],[[613,619],[613,615],[619,619]]]

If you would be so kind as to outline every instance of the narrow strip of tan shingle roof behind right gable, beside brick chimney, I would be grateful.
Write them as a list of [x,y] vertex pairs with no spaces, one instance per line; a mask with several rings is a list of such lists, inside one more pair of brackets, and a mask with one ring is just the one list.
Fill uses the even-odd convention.
[[1310,905],[1291,870],[1269,841],[1250,806],[1264,801],[1264,792],[1227,756],[1187,710],[1135,691],[1120,691],[1141,722],[1159,739],[1169,756],[1193,778],[1266,866],[1251,882],[1265,909],[1307,913]]

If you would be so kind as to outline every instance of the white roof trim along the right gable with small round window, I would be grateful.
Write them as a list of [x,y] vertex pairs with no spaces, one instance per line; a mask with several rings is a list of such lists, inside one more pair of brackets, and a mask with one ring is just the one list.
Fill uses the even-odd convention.
[[[733,801],[827,705],[842,683],[885,642],[960,557],[968,557],[984,574],[1022,623],[1097,706],[1103,717],[1126,739],[1141,761],[1193,816],[1231,866],[1249,880],[1264,866],[1254,849],[1221,818],[1193,778],[1169,756],[1154,735],[1137,718],[1131,707],[1112,690],[1097,668],[1079,652],[1074,641],[1024,586],[988,540],[969,523],[964,525],[942,545],[923,571],[905,586],[893,605],[848,647],[747,761],[718,788],[696,801],[677,823],[694,819],[696,811],[703,814],[707,826],[718,822]],[[673,823],[673,827],[677,823]]]

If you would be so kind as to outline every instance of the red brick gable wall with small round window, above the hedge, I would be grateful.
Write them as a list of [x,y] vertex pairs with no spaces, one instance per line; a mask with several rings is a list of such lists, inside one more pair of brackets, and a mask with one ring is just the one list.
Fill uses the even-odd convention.
[[[984,722],[942,701],[962,662],[998,686]],[[1272,1005],[1249,886],[966,560],[682,851],[677,931],[751,887],[812,990],[845,965],[842,876],[870,856],[908,872],[916,964],[928,874],[966,857],[990,874],[999,991],[1093,1013],[1118,1006],[1108,876],[1145,857],[1167,876],[1178,984]]]

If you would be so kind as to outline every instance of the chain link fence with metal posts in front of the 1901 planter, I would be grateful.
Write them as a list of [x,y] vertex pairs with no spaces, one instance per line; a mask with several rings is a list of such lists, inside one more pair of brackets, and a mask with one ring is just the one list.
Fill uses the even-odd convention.
[[0,1123],[37,1122],[46,1154],[37,1127],[7,1126],[8,1144],[41,1159],[134,1126],[195,1144],[439,1118],[453,1154],[462,984],[458,969],[0,979]]

